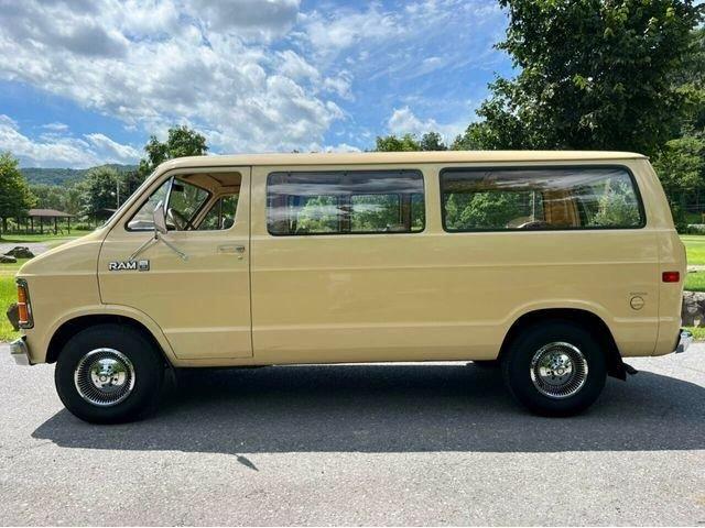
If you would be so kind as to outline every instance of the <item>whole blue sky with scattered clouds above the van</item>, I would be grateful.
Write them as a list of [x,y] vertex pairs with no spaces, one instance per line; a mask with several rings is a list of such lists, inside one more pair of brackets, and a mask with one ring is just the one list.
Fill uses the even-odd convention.
[[0,0],[0,150],[133,163],[187,124],[212,152],[355,151],[475,119],[506,14],[491,0]]

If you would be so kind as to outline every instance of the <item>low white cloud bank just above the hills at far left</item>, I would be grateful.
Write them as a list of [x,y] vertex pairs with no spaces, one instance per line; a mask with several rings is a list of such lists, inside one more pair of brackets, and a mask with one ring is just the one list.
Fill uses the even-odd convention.
[[32,140],[4,114],[0,114],[0,148],[9,150],[23,166],[35,167],[80,168],[104,163],[134,163],[140,157],[132,146],[99,133],[73,138],[52,132]]

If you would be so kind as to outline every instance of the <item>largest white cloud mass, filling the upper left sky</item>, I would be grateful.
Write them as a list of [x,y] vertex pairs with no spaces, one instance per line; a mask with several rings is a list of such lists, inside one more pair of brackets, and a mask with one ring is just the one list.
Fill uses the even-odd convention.
[[148,133],[189,123],[215,152],[291,151],[323,142],[344,113],[317,86],[316,67],[285,51],[272,70],[274,55],[248,43],[285,32],[299,1],[197,3],[184,18],[186,8],[176,0],[86,2],[85,11],[68,2],[0,0],[7,11],[0,78],[41,87]]

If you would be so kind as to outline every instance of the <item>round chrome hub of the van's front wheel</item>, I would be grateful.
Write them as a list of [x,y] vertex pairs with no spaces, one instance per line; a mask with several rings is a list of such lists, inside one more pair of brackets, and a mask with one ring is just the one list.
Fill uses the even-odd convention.
[[123,353],[115,349],[91,350],[76,365],[74,383],[86,402],[110,407],[132,393],[134,367]]

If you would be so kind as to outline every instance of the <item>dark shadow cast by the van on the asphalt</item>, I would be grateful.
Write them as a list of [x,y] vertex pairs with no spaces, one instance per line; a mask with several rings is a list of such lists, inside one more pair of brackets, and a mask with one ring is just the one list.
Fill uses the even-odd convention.
[[704,403],[705,388],[649,372],[609,378],[587,413],[550,419],[524,413],[499,372],[473,364],[188,371],[141,422],[91,426],[62,410],[32,436],[230,454],[695,450],[705,449]]

